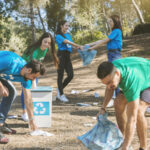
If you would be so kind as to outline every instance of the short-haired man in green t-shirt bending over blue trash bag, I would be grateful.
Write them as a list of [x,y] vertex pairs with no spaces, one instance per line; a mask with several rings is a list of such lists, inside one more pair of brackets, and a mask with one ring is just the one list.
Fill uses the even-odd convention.
[[145,111],[150,105],[150,60],[127,57],[99,65],[97,76],[107,86],[99,114],[104,114],[113,91],[119,86],[114,107],[116,119],[124,135],[122,150],[128,150],[137,128],[140,150],[147,150],[147,122]]

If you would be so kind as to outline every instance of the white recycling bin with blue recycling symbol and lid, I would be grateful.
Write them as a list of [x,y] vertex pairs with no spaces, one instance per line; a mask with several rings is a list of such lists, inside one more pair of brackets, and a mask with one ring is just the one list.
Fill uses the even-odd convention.
[[37,127],[51,127],[52,91],[50,86],[37,86],[31,89],[33,115]]

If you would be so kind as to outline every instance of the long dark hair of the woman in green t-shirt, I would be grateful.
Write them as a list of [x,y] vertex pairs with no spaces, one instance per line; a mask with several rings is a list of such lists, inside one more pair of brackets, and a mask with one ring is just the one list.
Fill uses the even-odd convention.
[[43,33],[43,35],[39,38],[38,41],[36,41],[32,45],[28,46],[27,49],[25,50],[24,54],[27,55],[27,56],[30,55],[31,60],[32,60],[32,54],[33,54],[34,50],[41,46],[42,41],[43,41],[44,38],[48,38],[48,37],[51,38],[51,45],[50,46],[51,46],[51,52],[52,52],[52,55],[53,55],[54,64],[58,68],[58,58],[57,58],[57,55],[56,55],[55,42],[54,42],[54,39],[53,39],[52,35],[48,32]]

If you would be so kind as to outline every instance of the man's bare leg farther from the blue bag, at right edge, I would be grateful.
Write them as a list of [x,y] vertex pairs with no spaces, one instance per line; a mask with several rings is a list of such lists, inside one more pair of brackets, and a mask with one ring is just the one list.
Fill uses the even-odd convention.
[[140,140],[140,148],[147,150],[147,120],[145,117],[145,111],[149,106],[148,103],[140,101],[138,116],[137,116],[137,134]]

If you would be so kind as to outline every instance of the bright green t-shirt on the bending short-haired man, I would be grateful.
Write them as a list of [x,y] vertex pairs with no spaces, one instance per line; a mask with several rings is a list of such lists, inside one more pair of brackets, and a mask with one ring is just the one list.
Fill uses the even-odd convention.
[[140,93],[150,87],[150,60],[127,57],[113,61],[121,72],[119,87],[128,102],[140,98]]

